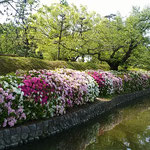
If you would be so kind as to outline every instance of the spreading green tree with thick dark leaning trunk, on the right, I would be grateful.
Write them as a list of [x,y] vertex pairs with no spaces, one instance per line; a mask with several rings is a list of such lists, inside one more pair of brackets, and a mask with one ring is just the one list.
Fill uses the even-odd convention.
[[149,22],[149,8],[142,11],[134,9],[126,20],[120,16],[112,20],[104,18],[93,30],[100,47],[89,52],[89,55],[107,62],[112,70],[118,70],[119,66],[127,64],[129,58],[140,53],[149,43],[146,37],[150,29]]

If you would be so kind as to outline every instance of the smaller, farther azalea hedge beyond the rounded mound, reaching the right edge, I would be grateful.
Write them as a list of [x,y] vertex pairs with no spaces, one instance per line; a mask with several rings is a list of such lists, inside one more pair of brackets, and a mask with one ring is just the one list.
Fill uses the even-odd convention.
[[149,72],[89,71],[99,85],[100,95],[129,93],[150,87]]

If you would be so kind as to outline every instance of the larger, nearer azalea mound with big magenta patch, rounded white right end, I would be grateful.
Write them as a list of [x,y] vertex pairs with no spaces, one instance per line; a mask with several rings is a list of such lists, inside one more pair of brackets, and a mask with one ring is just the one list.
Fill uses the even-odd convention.
[[0,78],[0,126],[66,113],[74,105],[93,102],[98,84],[85,72],[41,70]]

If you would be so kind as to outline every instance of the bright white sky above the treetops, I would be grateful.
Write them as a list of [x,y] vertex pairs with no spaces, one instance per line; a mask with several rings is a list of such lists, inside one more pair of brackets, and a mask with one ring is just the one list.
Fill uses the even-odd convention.
[[[59,0],[41,0],[42,4],[60,2]],[[143,8],[150,6],[150,0],[67,0],[69,4],[74,3],[77,6],[86,5],[90,11],[96,11],[101,16],[120,12],[123,17],[129,15],[132,6]]]

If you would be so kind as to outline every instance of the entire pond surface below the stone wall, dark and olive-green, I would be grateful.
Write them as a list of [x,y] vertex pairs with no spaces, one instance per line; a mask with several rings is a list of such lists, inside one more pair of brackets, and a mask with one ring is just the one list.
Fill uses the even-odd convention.
[[150,150],[150,96],[14,150]]

